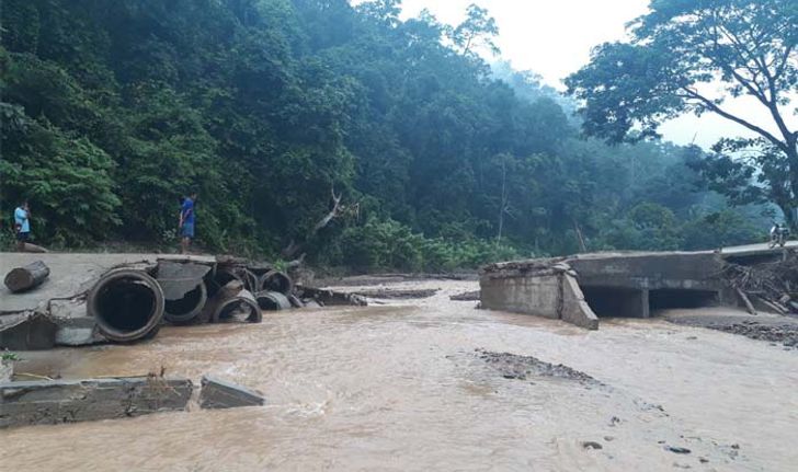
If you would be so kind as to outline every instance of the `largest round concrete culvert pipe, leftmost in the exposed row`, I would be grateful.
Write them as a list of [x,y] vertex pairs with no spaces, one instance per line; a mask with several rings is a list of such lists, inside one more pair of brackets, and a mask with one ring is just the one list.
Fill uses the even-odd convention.
[[103,336],[122,343],[155,336],[163,308],[163,291],[158,281],[133,269],[103,275],[89,291],[86,303]]

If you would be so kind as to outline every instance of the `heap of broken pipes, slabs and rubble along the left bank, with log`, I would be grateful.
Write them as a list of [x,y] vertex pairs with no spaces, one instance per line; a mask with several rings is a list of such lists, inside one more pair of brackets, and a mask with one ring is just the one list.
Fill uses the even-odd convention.
[[[5,277],[12,293],[36,289],[49,276],[37,261]],[[296,286],[271,264],[233,257],[159,258],[111,267],[86,290],[50,298],[35,310],[0,313],[0,348],[43,349],[157,335],[164,323],[260,323],[263,311],[364,306],[363,297]]]

